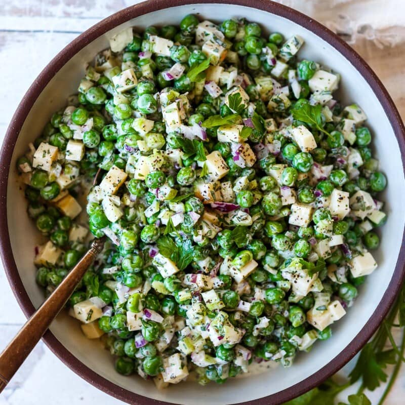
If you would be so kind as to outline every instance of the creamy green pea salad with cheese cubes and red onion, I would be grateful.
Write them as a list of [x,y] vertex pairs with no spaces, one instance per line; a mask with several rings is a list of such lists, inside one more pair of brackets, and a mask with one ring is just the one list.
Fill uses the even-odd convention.
[[376,269],[367,116],[302,46],[244,19],[128,28],[18,159],[47,294],[108,238],[68,307],[118,373],[165,388],[288,367]]

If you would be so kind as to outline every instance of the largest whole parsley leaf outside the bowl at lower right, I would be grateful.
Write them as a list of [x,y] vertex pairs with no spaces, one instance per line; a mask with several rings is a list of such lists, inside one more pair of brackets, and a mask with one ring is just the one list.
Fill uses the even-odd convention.
[[387,375],[383,371],[384,365],[377,361],[376,353],[371,342],[361,350],[360,356],[349,374],[350,383],[353,384],[362,377],[363,386],[374,390],[381,382],[387,381]]

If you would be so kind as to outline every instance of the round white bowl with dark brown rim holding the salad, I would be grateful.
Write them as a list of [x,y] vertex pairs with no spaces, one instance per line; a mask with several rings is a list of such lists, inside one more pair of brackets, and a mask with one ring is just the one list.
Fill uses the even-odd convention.
[[299,34],[305,39],[301,58],[315,60],[341,74],[339,96],[344,103],[355,101],[366,111],[373,145],[389,182],[383,196],[388,222],[381,229],[381,246],[375,254],[379,267],[360,288],[355,305],[334,326],[333,337],[327,343],[316,343],[310,354],[300,354],[293,367],[278,367],[205,388],[190,382],[158,391],[153,382],[117,374],[113,358],[102,344],[86,339],[78,322],[61,314],[45,335],[45,342],[77,374],[130,403],[152,403],[151,399],[187,405],[239,402],[269,405],[284,402],[336,372],[365,344],[385,316],[403,276],[404,251],[401,253],[400,248],[405,223],[405,181],[401,157],[405,150],[404,129],[385,89],[351,48],[308,17],[261,0],[228,2],[232,4],[227,4],[226,0],[217,4],[157,0],[114,14],[76,38],[45,68],[27,92],[13,117],[0,159],[2,256],[23,311],[30,315],[34,307],[42,303],[43,291],[34,280],[32,258],[39,236],[25,215],[26,201],[19,189],[15,170],[17,157],[26,150],[28,142],[41,133],[51,114],[65,105],[66,96],[76,92],[86,62],[108,46],[109,37],[129,26],[143,29],[148,25],[178,24],[189,13],[213,21],[246,17],[286,37]]

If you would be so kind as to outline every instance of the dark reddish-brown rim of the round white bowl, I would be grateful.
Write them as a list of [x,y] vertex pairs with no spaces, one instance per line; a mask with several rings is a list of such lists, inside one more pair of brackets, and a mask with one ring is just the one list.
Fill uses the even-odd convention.
[[[14,146],[26,116],[30,112],[37,97],[41,94],[42,90],[50,82],[52,77],[77,52],[82,50],[85,46],[90,44],[102,34],[122,23],[125,23],[128,20],[144,14],[176,6],[198,4],[230,4],[263,10],[280,17],[284,17],[303,26],[337,49],[340,54],[351,62],[362,77],[366,79],[369,86],[383,106],[384,112],[390,121],[391,127],[398,141],[401,152],[402,170],[405,172],[405,127],[393,100],[366,61],[363,60],[338,35],[319,22],[298,12],[297,10],[274,3],[270,0],[154,0],[130,6],[96,23],[94,26],[73,39],[71,43],[60,51],[34,80],[33,84],[30,86],[22,101],[18,105],[7,129],[3,146],[0,151],[0,169],[2,171],[2,176],[0,178],[0,253],[12,291],[26,317],[31,316],[35,311],[35,308],[24,289],[21,277],[14,261],[7,222],[7,185],[11,158]],[[405,232],[402,233],[402,244],[404,243]],[[239,402],[236,405],[271,405],[283,403],[303,394],[340,370],[366,344],[366,342],[380,326],[399,291],[404,276],[405,249],[399,252],[390,284],[385,291],[380,304],[355,338],[349,342],[347,346],[334,357],[334,359],[332,359],[329,363],[327,363],[327,365],[323,366],[317,372],[289,388],[263,398]],[[117,399],[126,401],[128,403],[142,403],[144,405],[170,404],[170,402],[159,401],[136,394],[125,388],[121,388],[119,385],[100,376],[84,365],[84,363],[82,363],[82,361],[76,358],[72,353],[70,353],[49,330],[43,336],[43,341],[51,349],[51,351],[78,376]]]

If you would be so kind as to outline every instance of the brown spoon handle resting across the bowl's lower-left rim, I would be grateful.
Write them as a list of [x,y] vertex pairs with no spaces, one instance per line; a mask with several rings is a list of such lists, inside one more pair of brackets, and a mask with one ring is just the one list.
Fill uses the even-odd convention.
[[93,260],[102,251],[103,246],[104,239],[94,240],[89,251],[73,267],[41,307],[25,322],[15,338],[0,354],[0,392],[4,390],[28,354],[47,331],[51,322],[65,306]]

